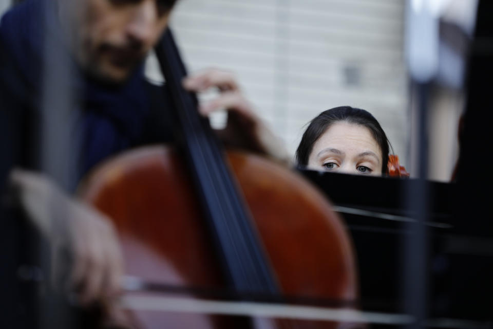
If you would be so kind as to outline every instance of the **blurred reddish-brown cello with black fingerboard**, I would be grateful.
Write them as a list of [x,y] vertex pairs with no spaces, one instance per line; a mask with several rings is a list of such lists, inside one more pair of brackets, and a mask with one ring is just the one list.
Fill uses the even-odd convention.
[[[155,50],[166,80],[163,92],[175,107],[179,147],[156,145],[119,155],[96,168],[79,191],[113,221],[126,275],[138,278],[140,286],[169,287],[136,289],[124,299],[142,305],[157,295],[226,294],[242,301],[353,306],[353,248],[326,198],[276,163],[223,151],[196,111],[196,96],[181,87],[186,71],[169,29]],[[138,328],[338,325],[159,312],[139,303],[123,307]]]

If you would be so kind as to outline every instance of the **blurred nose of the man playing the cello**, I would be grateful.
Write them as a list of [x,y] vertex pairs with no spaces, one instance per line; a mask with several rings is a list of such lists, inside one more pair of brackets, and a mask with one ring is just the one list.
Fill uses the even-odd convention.
[[134,41],[147,44],[154,38],[158,12],[154,0],[143,0],[132,11],[127,35]]

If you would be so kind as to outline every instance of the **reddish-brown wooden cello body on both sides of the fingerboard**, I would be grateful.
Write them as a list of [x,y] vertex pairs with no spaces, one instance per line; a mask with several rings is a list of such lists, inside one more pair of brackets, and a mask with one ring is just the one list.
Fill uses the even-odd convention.
[[[355,300],[352,246],[327,200],[266,159],[240,152],[229,152],[227,158],[283,295]],[[172,148],[142,148],[104,163],[84,182],[80,195],[112,218],[126,275],[170,286],[225,289],[185,163]],[[146,313],[155,319],[137,316],[145,327],[217,324],[208,317],[169,315],[166,326],[156,312]],[[177,321],[182,322],[174,325]]]

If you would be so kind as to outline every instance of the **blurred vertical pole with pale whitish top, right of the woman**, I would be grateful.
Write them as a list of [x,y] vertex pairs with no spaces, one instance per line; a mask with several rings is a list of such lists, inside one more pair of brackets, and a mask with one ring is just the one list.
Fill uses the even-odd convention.
[[438,19],[429,2],[407,1],[406,6],[406,59],[411,77],[411,130],[414,139],[413,173],[417,179],[409,181],[403,191],[403,206],[413,222],[406,224],[403,239],[402,300],[407,314],[415,321],[409,328],[421,328],[427,315],[429,253],[428,232],[425,222],[428,214],[428,105],[431,81],[438,72],[439,47]]

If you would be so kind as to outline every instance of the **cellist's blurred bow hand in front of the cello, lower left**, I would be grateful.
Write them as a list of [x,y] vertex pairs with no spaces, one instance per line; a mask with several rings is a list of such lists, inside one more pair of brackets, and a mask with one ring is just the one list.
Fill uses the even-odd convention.
[[66,284],[83,303],[118,294],[123,260],[109,218],[64,194],[47,176],[16,169],[10,180],[29,218],[49,237],[53,283]]

